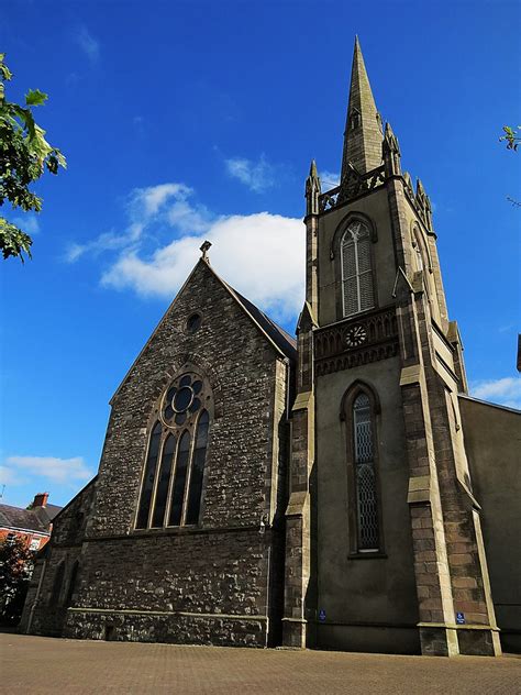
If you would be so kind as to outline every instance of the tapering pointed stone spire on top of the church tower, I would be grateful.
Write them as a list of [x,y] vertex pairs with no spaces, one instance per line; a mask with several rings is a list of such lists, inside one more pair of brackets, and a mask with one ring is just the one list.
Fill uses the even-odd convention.
[[345,180],[348,176],[350,165],[354,166],[359,174],[379,166],[381,141],[381,119],[376,110],[364,56],[358,36],[356,36],[351,70],[350,102],[345,120],[341,180]]

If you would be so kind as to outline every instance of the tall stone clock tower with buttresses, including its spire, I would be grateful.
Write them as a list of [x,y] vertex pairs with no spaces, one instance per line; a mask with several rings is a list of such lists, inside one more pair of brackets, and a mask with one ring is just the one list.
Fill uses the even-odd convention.
[[429,197],[355,41],[340,185],[306,184],[286,512],[287,646],[498,654]]

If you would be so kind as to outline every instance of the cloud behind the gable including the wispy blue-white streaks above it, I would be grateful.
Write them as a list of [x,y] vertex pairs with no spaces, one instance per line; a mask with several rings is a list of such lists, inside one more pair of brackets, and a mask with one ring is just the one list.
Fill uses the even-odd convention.
[[[173,297],[208,239],[213,244],[212,266],[228,283],[274,318],[292,319],[303,301],[302,222],[268,212],[217,217],[193,198],[193,190],[185,184],[135,189],[129,197],[125,230],[74,244],[67,260],[118,252],[102,275],[102,285],[130,288],[144,296]],[[168,234],[168,241],[158,243],[160,234]]]

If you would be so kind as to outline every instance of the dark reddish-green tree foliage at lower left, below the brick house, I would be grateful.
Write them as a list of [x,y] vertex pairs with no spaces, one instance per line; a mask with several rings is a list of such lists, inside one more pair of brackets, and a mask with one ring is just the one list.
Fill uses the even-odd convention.
[[19,536],[7,537],[0,543],[0,618],[18,625],[34,569],[34,552]]

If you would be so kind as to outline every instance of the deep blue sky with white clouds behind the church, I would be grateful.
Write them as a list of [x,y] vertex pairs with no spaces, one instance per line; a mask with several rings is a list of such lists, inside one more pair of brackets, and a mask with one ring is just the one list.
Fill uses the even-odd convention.
[[[420,176],[473,393],[521,406],[518,2],[4,3],[8,98],[68,169],[35,190],[33,261],[2,263],[3,503],[96,473],[108,401],[199,256],[290,330],[303,181],[340,169],[354,34]],[[5,211],[9,214],[9,211]],[[10,218],[20,217],[11,213]],[[1,489],[1,487],[0,487]]]

